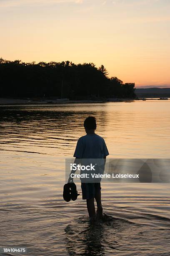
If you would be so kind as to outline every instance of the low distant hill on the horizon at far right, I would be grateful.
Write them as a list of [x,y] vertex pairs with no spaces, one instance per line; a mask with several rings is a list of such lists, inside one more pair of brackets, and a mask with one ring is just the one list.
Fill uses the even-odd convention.
[[170,97],[170,88],[137,88],[135,90],[135,94],[138,97],[145,97],[145,98],[160,98],[160,97],[165,97],[169,98]]

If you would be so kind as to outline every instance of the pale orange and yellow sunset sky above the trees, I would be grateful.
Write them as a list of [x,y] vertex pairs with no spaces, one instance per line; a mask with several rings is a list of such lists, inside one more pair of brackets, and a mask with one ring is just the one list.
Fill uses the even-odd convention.
[[170,87],[170,0],[0,0],[0,57],[103,64]]

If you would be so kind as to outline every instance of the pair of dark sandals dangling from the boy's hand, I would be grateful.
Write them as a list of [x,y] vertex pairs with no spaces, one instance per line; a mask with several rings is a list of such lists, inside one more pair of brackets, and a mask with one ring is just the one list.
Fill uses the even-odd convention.
[[66,202],[70,200],[75,201],[77,196],[80,195],[77,192],[77,187],[75,183],[66,183],[63,188],[63,198]]

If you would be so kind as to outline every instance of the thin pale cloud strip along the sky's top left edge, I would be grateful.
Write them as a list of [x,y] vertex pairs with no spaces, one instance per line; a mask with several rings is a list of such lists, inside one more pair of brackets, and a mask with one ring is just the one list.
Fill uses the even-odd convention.
[[85,0],[0,0],[0,8],[15,7],[21,5],[47,5],[55,3],[75,3],[81,4]]

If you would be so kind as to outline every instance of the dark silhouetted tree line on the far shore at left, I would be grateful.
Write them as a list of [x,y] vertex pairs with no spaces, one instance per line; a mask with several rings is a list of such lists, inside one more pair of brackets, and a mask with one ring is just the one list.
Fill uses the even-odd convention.
[[70,61],[29,62],[0,59],[0,97],[57,97],[70,100],[134,98],[135,83],[108,77],[103,65]]

